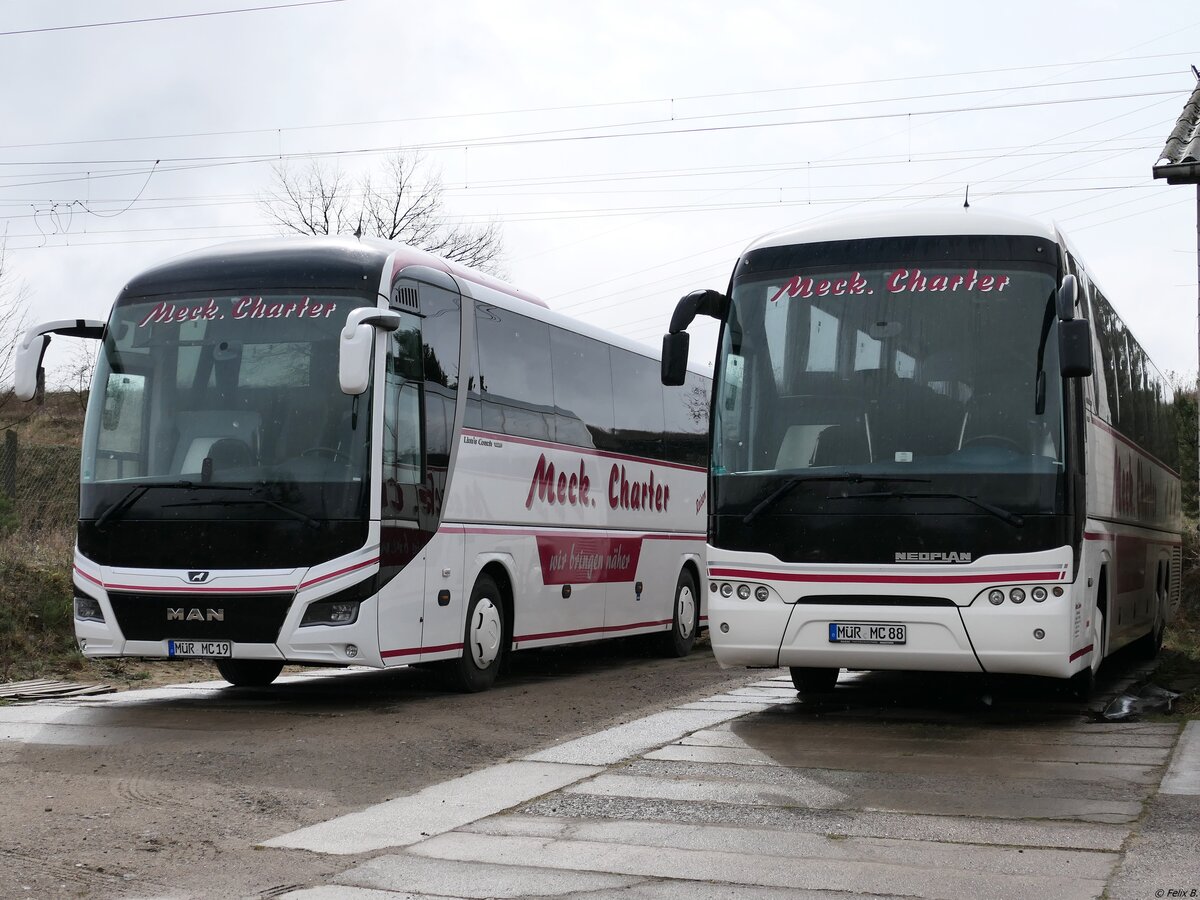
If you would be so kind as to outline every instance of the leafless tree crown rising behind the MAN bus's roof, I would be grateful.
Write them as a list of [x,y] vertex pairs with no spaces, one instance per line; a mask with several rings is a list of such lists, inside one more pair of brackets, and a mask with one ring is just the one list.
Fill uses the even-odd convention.
[[463,265],[502,274],[500,226],[455,224],[443,211],[442,179],[421,174],[422,158],[397,152],[377,173],[354,180],[313,160],[305,169],[275,169],[260,205],[286,232],[354,234],[395,240]]

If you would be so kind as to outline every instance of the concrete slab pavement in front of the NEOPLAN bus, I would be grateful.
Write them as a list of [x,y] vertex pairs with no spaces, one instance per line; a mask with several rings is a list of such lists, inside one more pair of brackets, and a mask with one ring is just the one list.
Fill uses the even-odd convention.
[[431,788],[490,798],[456,815],[415,796],[266,846],[382,851],[293,900],[1200,895],[1198,725],[1080,712],[880,722],[764,679]]

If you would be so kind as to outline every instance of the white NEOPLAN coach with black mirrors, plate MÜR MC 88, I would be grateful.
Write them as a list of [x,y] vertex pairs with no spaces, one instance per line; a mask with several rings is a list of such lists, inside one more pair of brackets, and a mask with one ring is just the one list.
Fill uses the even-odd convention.
[[[1171,391],[1055,229],[962,210],[751,245],[721,320],[709,634],[725,666],[1019,673],[1090,691],[1178,602]],[[1093,368],[1093,360],[1096,361]]]

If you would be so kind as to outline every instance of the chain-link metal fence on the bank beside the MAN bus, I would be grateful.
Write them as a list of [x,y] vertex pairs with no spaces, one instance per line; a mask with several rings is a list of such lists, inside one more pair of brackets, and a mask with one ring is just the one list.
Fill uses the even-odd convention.
[[72,530],[79,516],[79,448],[28,443],[12,430],[0,438],[0,497],[8,502],[0,522],[28,534]]

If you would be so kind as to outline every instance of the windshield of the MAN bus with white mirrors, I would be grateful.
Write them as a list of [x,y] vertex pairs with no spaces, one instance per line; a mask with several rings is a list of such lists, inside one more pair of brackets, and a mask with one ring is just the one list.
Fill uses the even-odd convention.
[[214,505],[224,516],[254,506],[256,518],[358,515],[370,392],[341,392],[337,338],[371,301],[280,292],[119,304],[88,408],[80,518],[133,505],[127,488],[145,484],[169,490],[140,492],[137,511],[172,504],[176,518]]

